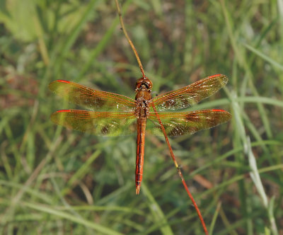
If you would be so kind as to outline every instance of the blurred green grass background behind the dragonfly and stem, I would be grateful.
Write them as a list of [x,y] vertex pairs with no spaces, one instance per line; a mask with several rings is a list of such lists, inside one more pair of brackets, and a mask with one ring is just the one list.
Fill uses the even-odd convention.
[[[153,96],[213,74],[229,83],[195,109],[229,110],[171,139],[210,234],[283,234],[283,1],[122,1]],[[0,234],[203,234],[161,137],[54,125],[74,108],[56,79],[134,98],[141,77],[114,1],[0,1]]]

